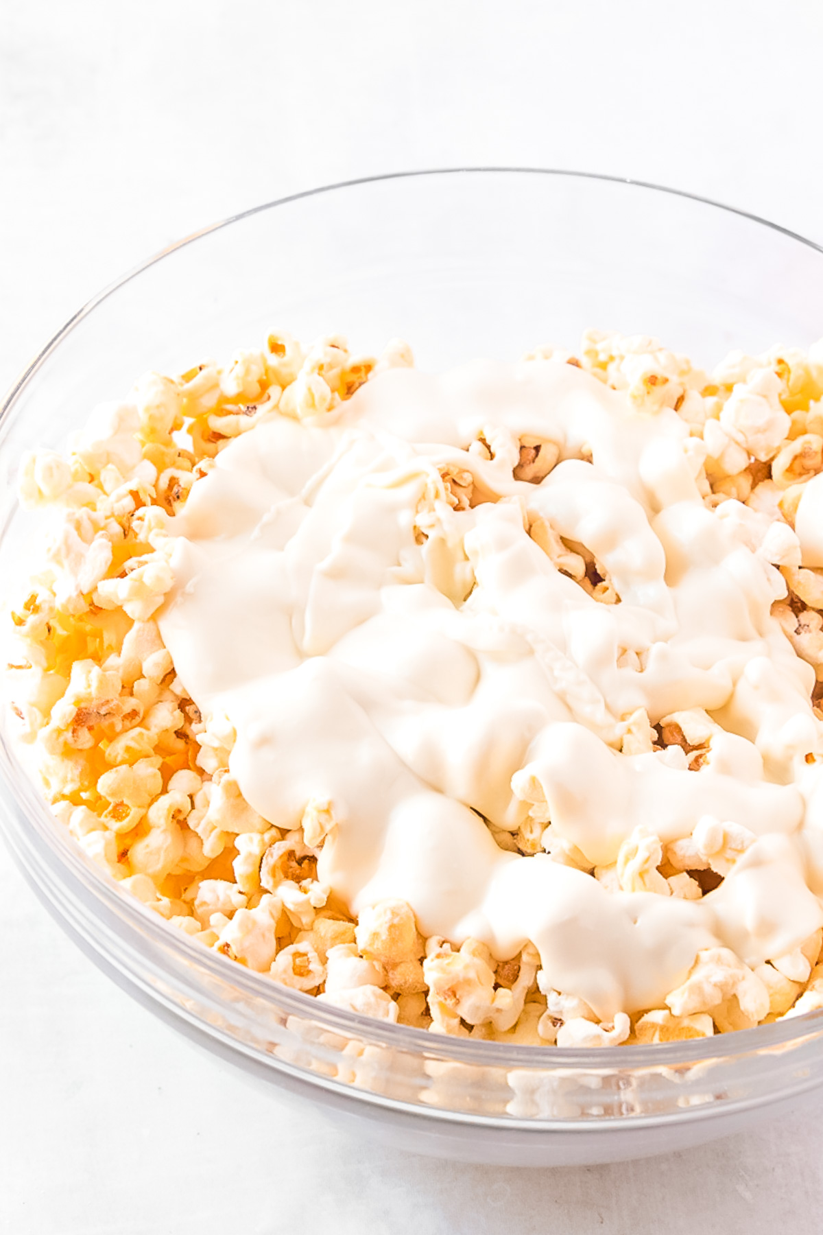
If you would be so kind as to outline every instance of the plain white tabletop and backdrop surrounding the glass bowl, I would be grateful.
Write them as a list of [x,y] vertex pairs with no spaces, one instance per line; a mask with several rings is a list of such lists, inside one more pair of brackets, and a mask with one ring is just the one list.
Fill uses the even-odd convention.
[[[0,0],[0,387],[168,242],[357,175],[600,170],[823,242],[822,56],[819,0]],[[62,937],[0,850],[10,1235],[811,1235],[821,1116],[823,1095],[610,1167],[401,1156],[195,1053]]]

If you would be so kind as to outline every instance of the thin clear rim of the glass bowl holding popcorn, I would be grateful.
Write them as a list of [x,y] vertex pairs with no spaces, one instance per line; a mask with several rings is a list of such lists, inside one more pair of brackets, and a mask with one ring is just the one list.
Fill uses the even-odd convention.
[[[402,182],[422,178],[450,177],[450,175],[532,175],[553,177],[556,179],[577,179],[602,184],[623,185],[632,189],[648,191],[650,194],[664,194],[693,201],[698,206],[707,206],[709,210],[722,210],[735,215],[749,222],[786,236],[790,240],[823,253],[823,245],[808,240],[797,232],[791,231],[780,224],[771,222],[750,211],[729,206],[700,194],[689,193],[681,189],[669,188],[645,180],[635,180],[628,177],[606,175],[596,172],[584,172],[563,168],[542,167],[506,167],[506,165],[466,165],[426,168],[420,170],[400,170],[386,174],[358,177],[354,179],[339,180],[333,184],[320,185],[292,193],[271,201],[252,206],[247,210],[230,215],[217,222],[201,227],[183,238],[159,249],[144,262],[131,268],[120,278],[109,283],[96,295],[91,296],[77,312],[74,312],[63,326],[48,340],[37,353],[35,359],[12,383],[0,404],[0,450],[2,448],[4,420],[12,411],[14,405],[27,387],[30,380],[46,364],[48,358],[57,351],[62,341],[95,309],[104,304],[111,295],[162,262],[165,257],[179,249],[221,231],[232,224],[242,222],[267,210],[285,206],[295,201],[331,194],[339,190],[360,188],[371,184],[385,184],[389,182]],[[0,529],[0,535],[5,529]],[[287,1013],[296,1016],[313,1016],[322,1019],[329,1029],[337,1028],[344,1034],[357,1034],[368,1037],[373,1042],[392,1047],[395,1050],[413,1051],[420,1055],[447,1055],[449,1058],[485,1067],[508,1068],[533,1068],[537,1066],[555,1070],[575,1070],[576,1072],[612,1072],[619,1070],[645,1068],[672,1068],[677,1065],[693,1065],[700,1061],[732,1060],[738,1056],[759,1053],[772,1050],[781,1052],[791,1044],[817,1037],[823,1031],[823,1009],[806,1013],[785,1021],[761,1024],[753,1029],[735,1030],[733,1032],[716,1034],[712,1037],[692,1039],[677,1042],[635,1044],[631,1046],[598,1047],[558,1047],[532,1046],[524,1044],[510,1044],[487,1041],[481,1039],[461,1039],[444,1035],[432,1035],[428,1030],[416,1029],[408,1025],[391,1024],[365,1016],[360,1013],[348,1011],[336,1008],[328,1003],[318,1002],[317,997],[292,990],[280,983],[274,983],[268,974],[257,973],[234,961],[221,956],[211,948],[195,942],[183,931],[174,930],[168,923],[152,913],[136,897],[123,895],[117,882],[96,863],[94,863],[70,837],[68,830],[57,826],[52,811],[44,799],[39,795],[30,776],[25,772],[21,761],[17,758],[14,743],[0,732],[0,784],[9,792],[12,805],[17,808],[19,825],[25,831],[35,827],[38,839],[48,846],[51,857],[59,862],[60,872],[69,874],[78,887],[91,890],[99,903],[122,919],[130,932],[147,935],[163,950],[172,952],[175,960],[180,960],[186,968],[194,972],[206,971],[216,979],[231,979],[231,982],[253,999],[263,998],[271,1002],[273,995],[276,1003]],[[0,814],[0,824],[5,823]],[[32,818],[33,815],[33,818]],[[39,825],[39,826],[37,826]],[[22,835],[22,832],[21,832]],[[9,836],[11,852],[23,872],[28,869],[22,860],[19,844]],[[62,852],[60,852],[62,851]],[[42,897],[46,892],[42,885],[37,889]],[[134,940],[137,945],[137,940]],[[102,950],[99,950],[102,952]],[[105,955],[105,952],[102,952]],[[201,1029],[207,1034],[209,1026],[201,1024]],[[241,1044],[237,1044],[238,1047]],[[255,1052],[257,1053],[257,1052]],[[273,1061],[271,1061],[273,1062]],[[584,1067],[585,1065],[585,1067]],[[311,1073],[308,1074],[311,1076]],[[315,1081],[320,1078],[315,1077]],[[508,1120],[506,1121],[508,1123]]]

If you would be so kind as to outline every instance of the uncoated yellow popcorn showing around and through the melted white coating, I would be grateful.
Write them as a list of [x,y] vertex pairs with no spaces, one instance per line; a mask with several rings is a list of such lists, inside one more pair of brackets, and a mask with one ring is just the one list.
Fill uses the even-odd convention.
[[[823,345],[808,354],[733,353],[711,375],[655,340],[596,331],[584,335],[577,354],[540,350],[529,359],[549,357],[624,390],[644,414],[674,409],[706,447],[698,483],[707,506],[737,499],[767,519],[775,537],[793,526],[804,483],[823,471]],[[268,412],[323,415],[374,373],[411,363],[401,342],[376,359],[352,356],[341,337],[304,348],[271,335],[265,348],[237,352],[225,368],[209,362],[178,378],[146,375],[125,403],[94,412],[67,458],[52,451],[25,458],[22,504],[53,508],[56,519],[43,568],[12,606],[7,673],[19,735],[36,755],[54,814],[90,858],[173,927],[287,987],[389,1021],[601,1046],[705,1037],[823,1008],[818,931],[756,969],[728,948],[702,951],[665,1007],[601,1023],[544,981],[531,944],[497,962],[473,939],[460,947],[423,939],[400,900],[354,920],[317,881],[329,804],[310,802],[301,826],[284,834],[241,795],[230,771],[236,735],[200,715],[153,620],[174,582],[165,517],[183,510],[222,447]],[[531,479],[534,462],[521,452],[515,474]],[[455,505],[459,488],[454,477]],[[555,538],[544,547],[559,568],[592,590],[608,588],[591,582],[590,563]],[[788,594],[772,611],[816,669],[817,708],[823,572],[796,564],[781,572]],[[711,731],[671,722],[635,736],[638,750],[649,739],[653,748],[680,746],[697,768]],[[632,732],[623,751],[633,752]],[[534,853],[543,830],[529,819],[496,839]],[[750,841],[745,829],[711,820],[665,846],[637,830],[613,867],[592,873],[624,892],[700,898]]]

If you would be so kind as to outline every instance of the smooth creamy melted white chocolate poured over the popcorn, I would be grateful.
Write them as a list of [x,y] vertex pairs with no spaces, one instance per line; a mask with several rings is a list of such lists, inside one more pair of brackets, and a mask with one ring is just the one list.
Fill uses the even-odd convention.
[[[523,438],[559,452],[539,484],[513,477]],[[703,947],[754,965],[823,924],[814,672],[770,616],[780,576],[703,505],[701,446],[573,366],[478,362],[390,369],[322,425],[271,414],[192,488],[163,637],[233,724],[257,811],[291,829],[331,800],[318,877],[354,913],[402,898],[426,935],[501,958],[532,940],[601,1016],[660,1007]],[[471,509],[445,500],[448,468]],[[618,604],[555,568],[537,519]],[[639,708],[711,714],[706,764],[619,753]],[[516,830],[529,810],[591,867],[638,824],[666,842],[713,815],[758,840],[702,900],[613,893],[498,848],[481,815]]]

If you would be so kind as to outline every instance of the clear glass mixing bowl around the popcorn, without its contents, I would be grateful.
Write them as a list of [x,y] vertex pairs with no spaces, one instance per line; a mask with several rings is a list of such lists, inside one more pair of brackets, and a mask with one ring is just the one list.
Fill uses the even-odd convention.
[[[0,421],[0,579],[39,525],[21,453],[62,447],[91,406],[155,368],[227,357],[274,329],[391,336],[423,368],[574,347],[586,326],[650,333],[703,364],[823,333],[823,251],[684,194],[532,169],[410,173],[260,206],[181,241],[81,309]],[[278,986],[123,895],[51,815],[4,730],[0,803],[46,906],[121,987],[271,1084],[415,1151],[598,1162],[733,1131],[823,1082],[823,1013],[702,1041],[606,1050],[454,1040]],[[204,1081],[204,1083],[207,1083]]]

